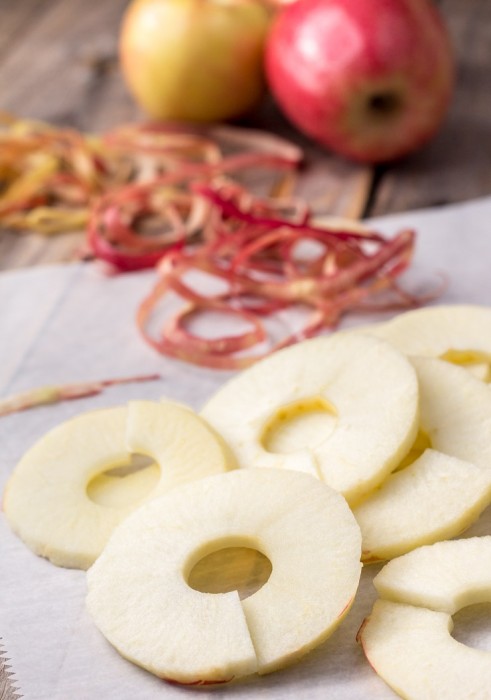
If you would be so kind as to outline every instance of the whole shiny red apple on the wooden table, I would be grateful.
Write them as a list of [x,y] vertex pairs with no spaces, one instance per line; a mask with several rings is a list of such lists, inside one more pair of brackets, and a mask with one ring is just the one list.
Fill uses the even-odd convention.
[[419,148],[438,130],[454,63],[430,0],[299,0],[274,22],[266,74],[299,129],[377,163]]

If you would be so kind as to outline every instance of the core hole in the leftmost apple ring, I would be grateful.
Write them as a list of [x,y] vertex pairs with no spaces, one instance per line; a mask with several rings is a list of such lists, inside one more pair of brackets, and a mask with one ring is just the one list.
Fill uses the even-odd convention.
[[127,463],[96,474],[87,484],[87,495],[97,505],[124,508],[141,501],[159,478],[160,467],[151,457],[132,454]]

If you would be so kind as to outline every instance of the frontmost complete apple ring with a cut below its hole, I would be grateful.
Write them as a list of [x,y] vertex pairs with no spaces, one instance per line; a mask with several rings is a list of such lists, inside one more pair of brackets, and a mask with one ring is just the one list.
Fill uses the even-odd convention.
[[[272,564],[250,597],[190,587],[227,547]],[[320,644],[353,602],[358,525],[340,494],[307,474],[240,469],[186,484],[133,513],[87,574],[88,610],[130,661],[168,681],[207,685],[269,673]]]

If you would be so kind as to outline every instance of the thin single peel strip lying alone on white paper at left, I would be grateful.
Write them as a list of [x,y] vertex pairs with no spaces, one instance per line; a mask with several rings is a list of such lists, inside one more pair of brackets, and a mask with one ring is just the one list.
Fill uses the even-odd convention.
[[104,389],[116,384],[133,384],[135,382],[151,382],[160,379],[159,374],[147,374],[135,377],[122,377],[117,379],[103,379],[95,382],[82,382],[80,384],[61,384],[53,386],[42,386],[31,391],[15,394],[14,396],[0,399],[0,417],[8,416],[11,413],[27,411],[37,406],[59,403],[60,401],[71,401],[87,396],[100,394]]

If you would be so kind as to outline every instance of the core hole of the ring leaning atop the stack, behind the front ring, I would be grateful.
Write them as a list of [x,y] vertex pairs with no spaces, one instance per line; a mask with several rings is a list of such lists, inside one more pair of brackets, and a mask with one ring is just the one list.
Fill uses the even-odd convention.
[[286,454],[315,448],[333,432],[337,423],[334,406],[312,397],[282,406],[267,424],[262,445],[268,452]]

